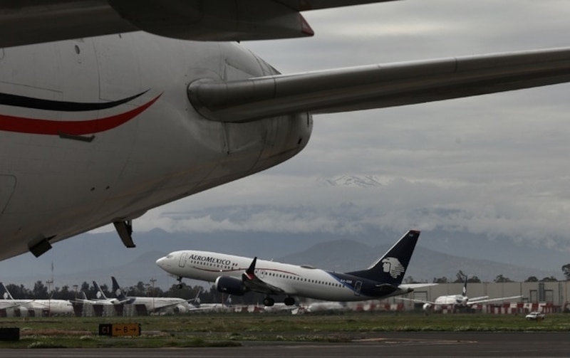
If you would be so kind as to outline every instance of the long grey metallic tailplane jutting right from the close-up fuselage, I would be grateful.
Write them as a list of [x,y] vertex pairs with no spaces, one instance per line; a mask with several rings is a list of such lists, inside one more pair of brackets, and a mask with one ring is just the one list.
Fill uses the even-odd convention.
[[570,81],[570,48],[442,58],[274,75],[197,80],[192,105],[209,120],[247,122],[447,100]]

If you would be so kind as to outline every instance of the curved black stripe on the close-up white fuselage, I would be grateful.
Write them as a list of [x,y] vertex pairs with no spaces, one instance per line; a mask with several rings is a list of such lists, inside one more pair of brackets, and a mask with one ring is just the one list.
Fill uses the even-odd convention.
[[84,112],[89,110],[106,110],[108,108],[117,107],[123,103],[134,100],[147,93],[141,92],[122,100],[112,102],[66,102],[58,100],[42,100],[41,98],[31,98],[21,95],[10,95],[9,93],[0,93],[0,105],[10,105],[14,107],[31,108],[34,110],[55,110],[60,112]]

